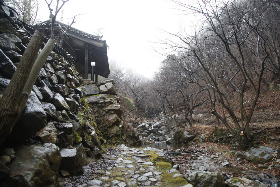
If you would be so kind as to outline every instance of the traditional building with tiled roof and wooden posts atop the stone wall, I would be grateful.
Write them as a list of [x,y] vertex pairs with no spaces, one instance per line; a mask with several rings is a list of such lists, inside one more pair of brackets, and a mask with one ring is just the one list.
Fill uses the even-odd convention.
[[[54,40],[61,42],[61,34],[67,29],[66,24],[55,21]],[[34,26],[36,30],[44,32],[47,38],[51,36],[51,20],[44,21]],[[88,34],[76,28],[70,27],[64,35],[61,47],[75,58],[76,71],[84,79],[88,79],[92,68],[90,63],[95,62],[95,80],[97,75],[108,78],[110,74],[107,44],[102,36]]]

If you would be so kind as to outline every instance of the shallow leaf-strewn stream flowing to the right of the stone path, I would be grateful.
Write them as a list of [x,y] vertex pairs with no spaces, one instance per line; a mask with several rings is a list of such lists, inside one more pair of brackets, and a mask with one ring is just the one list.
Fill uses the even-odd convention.
[[[247,160],[237,162],[233,154],[230,154],[231,152],[229,150],[222,150],[219,148],[217,149],[219,151],[216,151],[211,150],[211,147],[200,147],[199,145],[168,145],[166,143],[153,143],[137,146],[137,148],[145,147],[153,147],[165,151],[165,153],[172,158],[174,164],[179,164],[179,171],[182,174],[192,173],[194,171],[217,171],[223,175],[224,179],[246,177],[254,181],[260,181],[271,187],[280,187],[277,173],[275,174],[270,170],[257,168],[256,165],[249,163]],[[222,163],[224,162],[229,162],[229,164],[227,166],[222,166]]]

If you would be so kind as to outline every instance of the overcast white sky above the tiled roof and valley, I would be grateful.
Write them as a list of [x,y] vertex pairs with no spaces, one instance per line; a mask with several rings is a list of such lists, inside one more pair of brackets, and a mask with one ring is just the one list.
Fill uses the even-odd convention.
[[[47,5],[44,1],[42,5],[48,19]],[[83,14],[76,17],[72,27],[90,34],[103,28],[101,35],[109,46],[109,63],[116,61],[150,77],[164,59],[154,51],[153,47],[161,47],[154,42],[168,37],[162,30],[178,31],[183,16],[176,8],[168,0],[70,0],[63,7],[63,22]],[[57,21],[61,21],[60,17]]]

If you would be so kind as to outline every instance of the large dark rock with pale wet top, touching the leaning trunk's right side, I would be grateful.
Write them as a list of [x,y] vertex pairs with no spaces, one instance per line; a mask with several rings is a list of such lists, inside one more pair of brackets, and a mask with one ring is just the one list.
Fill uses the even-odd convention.
[[46,124],[47,114],[36,94],[31,91],[23,116],[15,124],[12,133],[6,138],[6,142],[15,144],[27,140],[43,129]]

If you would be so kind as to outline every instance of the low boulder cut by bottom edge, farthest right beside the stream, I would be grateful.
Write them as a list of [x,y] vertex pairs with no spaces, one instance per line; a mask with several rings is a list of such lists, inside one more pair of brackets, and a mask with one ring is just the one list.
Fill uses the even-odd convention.
[[258,181],[251,181],[245,177],[234,177],[227,179],[226,184],[228,187],[268,187],[266,184],[262,184]]

